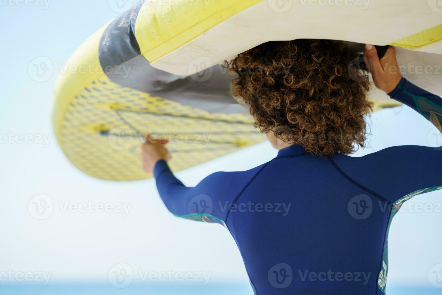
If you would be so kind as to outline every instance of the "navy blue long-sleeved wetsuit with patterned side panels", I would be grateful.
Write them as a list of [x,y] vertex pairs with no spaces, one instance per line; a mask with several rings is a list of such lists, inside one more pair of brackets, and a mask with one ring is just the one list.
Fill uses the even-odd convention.
[[[405,79],[390,96],[433,123],[442,100]],[[440,124],[437,124],[440,125]],[[442,188],[442,151],[396,146],[364,157],[313,157],[293,145],[259,167],[187,188],[164,161],[158,191],[173,214],[232,234],[255,294],[385,293],[387,236],[404,201]]]

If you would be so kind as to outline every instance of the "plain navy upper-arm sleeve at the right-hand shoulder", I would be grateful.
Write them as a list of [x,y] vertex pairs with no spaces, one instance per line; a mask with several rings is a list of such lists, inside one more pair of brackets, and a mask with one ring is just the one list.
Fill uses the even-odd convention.
[[442,189],[442,147],[393,146],[364,157],[337,156],[335,162],[351,180],[390,203]]

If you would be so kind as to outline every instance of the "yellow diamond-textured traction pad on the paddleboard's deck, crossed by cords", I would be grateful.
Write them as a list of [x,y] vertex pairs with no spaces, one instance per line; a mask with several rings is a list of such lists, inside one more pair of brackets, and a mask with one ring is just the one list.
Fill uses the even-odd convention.
[[170,140],[174,171],[263,141],[248,115],[209,113],[124,88],[107,77],[69,103],[59,141],[69,160],[90,176],[140,180],[149,176],[141,166],[138,131]]

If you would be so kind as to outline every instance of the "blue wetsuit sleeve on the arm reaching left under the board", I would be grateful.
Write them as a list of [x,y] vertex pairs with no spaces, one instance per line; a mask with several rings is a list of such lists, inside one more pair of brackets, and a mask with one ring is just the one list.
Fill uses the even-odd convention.
[[195,187],[186,187],[165,161],[155,165],[154,176],[160,197],[175,216],[225,225],[231,204],[247,188],[261,166],[244,172],[216,172]]

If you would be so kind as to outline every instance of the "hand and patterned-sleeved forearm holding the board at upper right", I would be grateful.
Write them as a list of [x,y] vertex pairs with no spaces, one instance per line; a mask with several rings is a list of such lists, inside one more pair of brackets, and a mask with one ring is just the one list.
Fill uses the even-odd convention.
[[390,46],[384,57],[379,60],[376,48],[367,45],[365,55],[370,59],[370,72],[376,87],[385,91],[392,99],[412,107],[442,132],[441,97],[417,87],[402,77],[394,47]]

